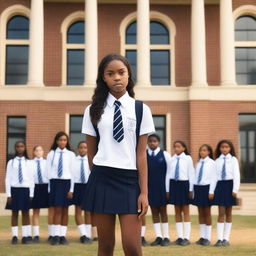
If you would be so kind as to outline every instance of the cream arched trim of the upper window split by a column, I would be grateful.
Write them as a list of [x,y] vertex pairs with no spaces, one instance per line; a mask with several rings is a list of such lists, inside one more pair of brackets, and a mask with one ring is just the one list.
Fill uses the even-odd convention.
[[[133,12],[128,14],[120,23],[119,27],[119,33],[120,33],[120,43],[121,43],[121,54],[125,56],[126,50],[137,50],[137,44],[126,44],[125,43],[125,32],[127,27],[137,19],[137,12]],[[167,15],[157,12],[157,11],[151,11],[150,12],[150,21],[158,21],[166,26],[166,28],[169,30],[169,39],[170,44],[166,45],[156,45],[156,44],[150,44],[150,50],[170,50],[171,56],[170,56],[170,74],[171,74],[171,81],[168,86],[175,86],[175,35],[176,35],[176,27],[174,22],[171,20],[170,17]],[[155,86],[155,85],[152,85]],[[157,87],[160,87],[156,85]],[[166,87],[166,85],[163,85]]]

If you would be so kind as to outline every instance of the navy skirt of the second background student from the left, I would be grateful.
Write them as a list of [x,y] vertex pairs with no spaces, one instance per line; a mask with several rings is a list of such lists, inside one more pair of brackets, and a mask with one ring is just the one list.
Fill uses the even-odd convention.
[[48,184],[35,184],[32,209],[49,208]]

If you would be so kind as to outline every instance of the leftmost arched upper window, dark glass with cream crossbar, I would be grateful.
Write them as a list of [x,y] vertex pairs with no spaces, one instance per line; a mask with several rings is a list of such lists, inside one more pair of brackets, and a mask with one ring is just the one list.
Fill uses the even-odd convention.
[[13,16],[6,27],[5,84],[26,84],[28,80],[29,20]]

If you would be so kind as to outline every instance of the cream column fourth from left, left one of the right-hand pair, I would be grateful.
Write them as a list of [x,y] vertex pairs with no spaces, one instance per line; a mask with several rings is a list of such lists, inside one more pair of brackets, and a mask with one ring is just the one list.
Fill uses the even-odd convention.
[[192,0],[192,86],[207,86],[204,0]]

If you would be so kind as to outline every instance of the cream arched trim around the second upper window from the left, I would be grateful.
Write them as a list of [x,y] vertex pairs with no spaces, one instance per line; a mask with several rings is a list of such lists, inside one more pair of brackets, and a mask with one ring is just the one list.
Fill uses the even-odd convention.
[[84,49],[86,51],[86,43],[84,44],[68,44],[67,43],[67,31],[69,29],[69,26],[77,21],[85,21],[84,19],[85,19],[85,13],[83,11],[77,11],[68,15],[61,24],[61,28],[60,28],[60,33],[62,35],[61,86],[72,86],[72,85],[67,85],[67,50],[68,49]]

